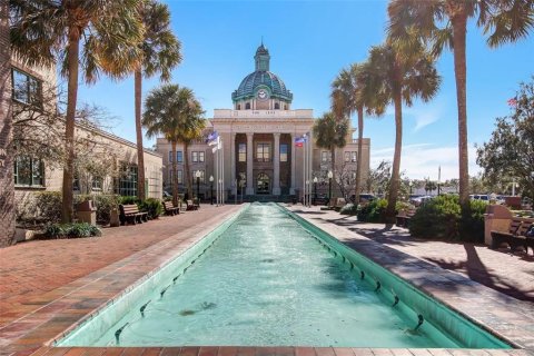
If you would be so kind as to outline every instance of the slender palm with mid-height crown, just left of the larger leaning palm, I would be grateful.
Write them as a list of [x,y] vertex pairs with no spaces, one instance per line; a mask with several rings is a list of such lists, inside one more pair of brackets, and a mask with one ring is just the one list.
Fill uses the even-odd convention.
[[338,118],[350,118],[354,112],[358,113],[358,159],[356,162],[356,185],[355,185],[355,204],[359,201],[360,179],[362,179],[362,147],[364,139],[364,109],[368,115],[382,115],[380,111],[374,110],[369,105],[374,97],[365,98],[362,88],[367,80],[364,72],[364,66],[353,63],[349,68],[342,69],[336,79],[332,83],[332,110]]

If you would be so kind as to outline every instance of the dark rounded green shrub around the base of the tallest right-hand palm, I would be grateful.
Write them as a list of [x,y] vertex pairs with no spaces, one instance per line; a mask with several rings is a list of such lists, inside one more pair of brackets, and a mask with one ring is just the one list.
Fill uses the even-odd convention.
[[471,201],[471,211],[462,217],[458,196],[443,195],[422,205],[409,221],[417,238],[484,241],[484,212],[487,204]]

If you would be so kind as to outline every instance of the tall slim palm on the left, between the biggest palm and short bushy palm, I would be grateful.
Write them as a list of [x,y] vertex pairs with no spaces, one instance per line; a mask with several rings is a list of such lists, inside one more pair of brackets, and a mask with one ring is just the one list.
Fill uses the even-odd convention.
[[181,61],[180,42],[170,29],[170,12],[166,4],[147,0],[141,4],[139,16],[145,24],[145,37],[140,43],[141,62],[135,70],[137,162],[139,177],[137,194],[145,199],[145,159],[141,129],[142,78],[160,75],[161,81],[170,80],[170,71]]

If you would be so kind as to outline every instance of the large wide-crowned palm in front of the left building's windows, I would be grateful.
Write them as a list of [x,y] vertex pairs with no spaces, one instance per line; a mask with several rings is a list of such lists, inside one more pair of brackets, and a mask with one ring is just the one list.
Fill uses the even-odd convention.
[[[75,115],[78,75],[92,83],[100,72],[119,79],[139,60],[141,0],[10,0],[11,49],[29,66],[61,63],[68,79],[62,221],[72,221]],[[81,51],[81,53],[80,53]],[[80,66],[81,65],[81,66]]]

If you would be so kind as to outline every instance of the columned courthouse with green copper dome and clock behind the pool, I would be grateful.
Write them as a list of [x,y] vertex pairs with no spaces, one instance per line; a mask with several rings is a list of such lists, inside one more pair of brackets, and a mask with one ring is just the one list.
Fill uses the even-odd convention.
[[[305,185],[303,166],[304,148],[297,147],[295,140],[304,135],[313,136],[315,122],[312,109],[293,109],[293,92],[284,81],[270,71],[269,51],[261,46],[257,49],[255,71],[243,79],[231,93],[231,109],[216,109],[209,119],[207,134],[217,131],[222,140],[225,166],[225,191],[228,197],[241,195],[270,195],[274,200],[285,196],[303,195]],[[336,149],[335,158],[330,151],[322,149],[313,142],[313,177],[317,177],[318,194],[327,190],[327,172],[335,172],[336,182],[333,189],[337,195],[349,195],[354,186],[357,140],[353,139],[354,130],[349,130],[347,145]],[[363,174],[365,180],[369,170],[368,138],[363,140]],[[200,196],[209,197],[210,176],[215,176],[214,154],[211,147],[198,141],[188,148],[191,167],[189,172],[182,166],[184,148],[178,146],[172,152],[170,144],[159,138],[156,149],[164,156],[164,188],[171,190],[171,177],[178,175],[179,190],[185,188],[184,176],[195,177],[200,170]],[[171,160],[177,160],[177,172],[171,171]],[[196,185],[196,179],[192,180]],[[312,184],[312,182],[308,182]],[[195,186],[195,191],[197,187]],[[352,194],[354,194],[354,188]]]

